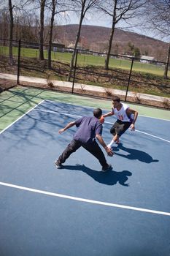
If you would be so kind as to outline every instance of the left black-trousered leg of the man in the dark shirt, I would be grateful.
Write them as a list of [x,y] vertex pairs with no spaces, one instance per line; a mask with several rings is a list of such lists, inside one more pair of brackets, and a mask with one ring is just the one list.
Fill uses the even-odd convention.
[[82,144],[80,143],[80,141],[78,140],[72,140],[71,143],[69,143],[69,145],[66,147],[66,149],[63,151],[63,153],[60,155],[60,157],[58,157],[58,160],[56,162],[58,162],[59,165],[63,164],[63,162],[66,161],[67,158],[69,158],[69,156],[74,153],[75,151],[77,151],[78,148],[80,148],[80,146],[82,146]]

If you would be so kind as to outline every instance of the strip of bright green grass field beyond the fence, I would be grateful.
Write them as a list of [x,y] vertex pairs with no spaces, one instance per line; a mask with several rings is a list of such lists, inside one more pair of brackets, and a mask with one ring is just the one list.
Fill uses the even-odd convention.
[[[0,55],[9,55],[9,48],[0,46]],[[18,56],[18,48],[13,47],[13,55]],[[26,58],[38,58],[39,50],[30,49],[30,48],[21,48],[20,56]],[[47,50],[44,50],[45,59],[47,59]],[[52,60],[63,61],[69,63],[72,58],[72,53],[60,53],[60,52],[52,52]],[[104,67],[104,56],[93,56],[87,54],[79,54],[77,57],[77,64],[80,66],[102,66]],[[123,60],[123,59],[112,59],[109,60],[110,68],[119,68],[130,70],[131,69],[131,61]],[[136,72],[144,72],[150,73],[153,75],[163,76],[163,67],[155,65],[155,64],[144,64],[141,62],[134,61],[133,71]],[[170,71],[169,71],[170,75]]]

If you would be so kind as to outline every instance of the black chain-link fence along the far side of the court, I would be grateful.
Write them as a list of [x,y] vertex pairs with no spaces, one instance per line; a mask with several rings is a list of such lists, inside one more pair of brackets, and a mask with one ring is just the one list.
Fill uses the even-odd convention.
[[[38,43],[12,41],[11,61],[9,43],[9,40],[0,39],[1,73],[18,75],[18,83],[21,76],[42,78],[41,83],[51,89],[65,90],[54,86],[54,80],[67,81],[74,49],[53,44],[50,53],[49,45],[44,45],[44,59],[40,60]],[[111,55],[109,70],[106,70],[105,59],[106,53],[77,49],[71,75],[72,88],[67,91],[77,92],[74,85],[79,83],[82,94],[87,93],[85,85],[91,85],[104,89],[100,95],[103,97],[111,96],[112,89],[125,91],[125,100],[129,91],[136,94],[136,99],[139,93],[170,97],[170,80],[163,79],[166,63],[149,57],[136,59],[133,56]],[[97,96],[94,91],[91,94]]]

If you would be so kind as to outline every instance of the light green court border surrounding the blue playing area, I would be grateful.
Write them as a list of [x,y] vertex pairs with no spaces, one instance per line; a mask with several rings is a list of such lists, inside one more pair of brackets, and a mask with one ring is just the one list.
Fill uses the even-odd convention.
[[[45,91],[42,89],[29,89],[27,87],[18,86],[0,94],[0,131],[45,99],[106,110],[112,108],[111,100],[82,97],[74,94]],[[148,108],[141,105],[128,105],[139,111],[140,116],[170,120],[169,110]],[[81,115],[81,113],[77,114]]]

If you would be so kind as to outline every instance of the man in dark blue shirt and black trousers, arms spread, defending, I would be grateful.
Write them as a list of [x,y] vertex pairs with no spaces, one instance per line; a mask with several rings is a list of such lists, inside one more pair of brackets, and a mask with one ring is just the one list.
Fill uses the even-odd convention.
[[96,139],[104,147],[107,151],[109,157],[113,156],[113,152],[110,148],[107,147],[106,143],[104,142],[103,138],[101,137],[102,134],[102,124],[99,119],[102,116],[102,110],[100,108],[96,108],[93,110],[93,116],[83,116],[82,118],[77,119],[76,121],[72,121],[66,125],[63,129],[58,131],[59,134],[64,132],[66,129],[73,127],[76,125],[77,132],[75,132],[73,136],[73,140],[66,149],[63,151],[58,160],[55,161],[55,166],[58,169],[63,167],[63,162],[66,161],[69,156],[77,151],[78,148],[81,146],[85,148],[90,154],[93,154],[94,157],[98,159],[102,166],[102,171],[112,170],[112,165],[107,163],[106,158],[104,157],[104,153],[101,148],[98,146]]

